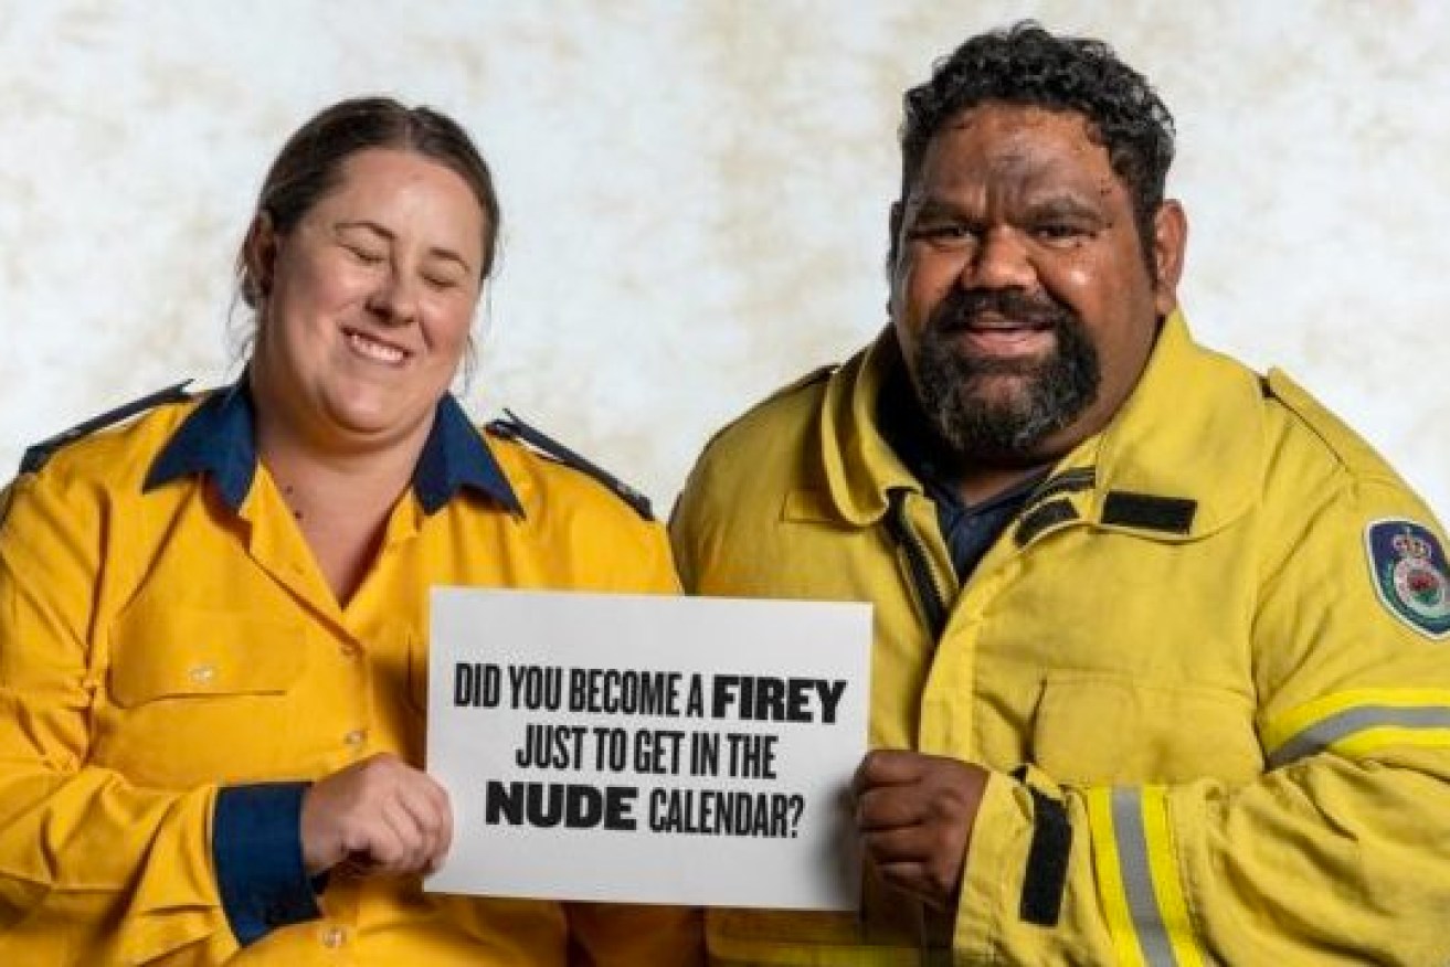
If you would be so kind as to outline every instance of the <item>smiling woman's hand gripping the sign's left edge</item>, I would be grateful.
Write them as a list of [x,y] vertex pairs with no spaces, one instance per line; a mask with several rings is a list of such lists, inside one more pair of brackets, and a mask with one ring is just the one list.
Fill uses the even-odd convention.
[[426,874],[451,842],[448,793],[396,755],[374,755],[334,773],[302,800],[307,876],[344,861],[362,874]]

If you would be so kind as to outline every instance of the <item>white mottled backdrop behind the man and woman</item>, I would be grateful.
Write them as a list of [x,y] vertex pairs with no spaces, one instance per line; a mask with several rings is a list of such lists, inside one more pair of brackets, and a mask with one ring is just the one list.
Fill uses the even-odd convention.
[[0,467],[229,378],[231,262],[338,97],[457,116],[505,209],[480,416],[666,510],[708,433],[883,323],[902,90],[1022,16],[1109,39],[1179,122],[1198,335],[1279,364],[1450,516],[1450,6],[0,0]]

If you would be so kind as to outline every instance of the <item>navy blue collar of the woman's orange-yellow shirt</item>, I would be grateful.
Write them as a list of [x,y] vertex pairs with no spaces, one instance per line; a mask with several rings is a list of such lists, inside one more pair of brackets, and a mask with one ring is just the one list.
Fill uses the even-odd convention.
[[[257,476],[252,397],[245,375],[191,410],[157,454],[142,491],[191,474],[207,474],[226,506],[233,512],[241,509]],[[445,394],[438,400],[434,426],[413,468],[413,493],[423,513],[432,515],[464,489],[523,515],[489,445],[458,400]]]

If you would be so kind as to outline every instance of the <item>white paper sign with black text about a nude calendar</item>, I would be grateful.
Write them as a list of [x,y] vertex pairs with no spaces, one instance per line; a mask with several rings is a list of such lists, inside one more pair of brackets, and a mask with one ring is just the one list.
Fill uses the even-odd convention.
[[441,587],[428,889],[853,909],[869,605]]

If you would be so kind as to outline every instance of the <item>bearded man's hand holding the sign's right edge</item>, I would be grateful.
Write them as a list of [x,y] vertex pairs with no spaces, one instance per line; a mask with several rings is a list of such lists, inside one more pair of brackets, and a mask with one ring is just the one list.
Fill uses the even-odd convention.
[[951,909],[986,781],[986,770],[954,758],[867,752],[851,792],[866,857],[882,880]]

